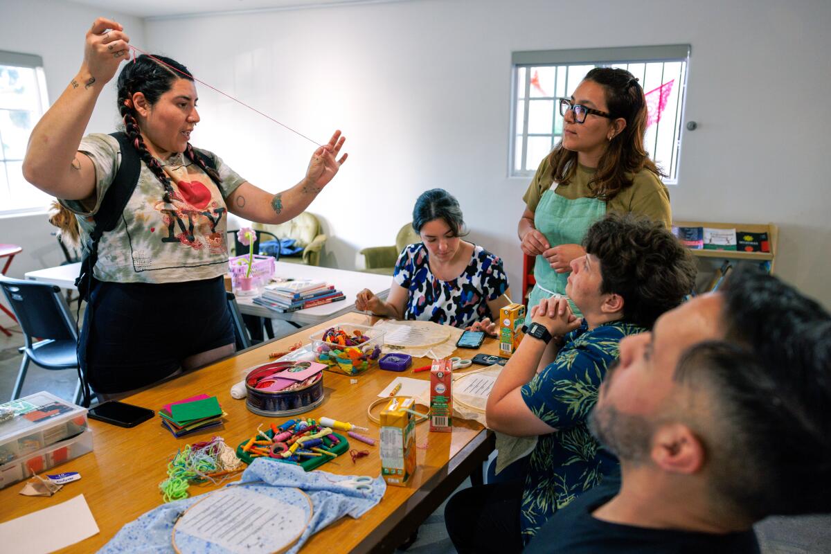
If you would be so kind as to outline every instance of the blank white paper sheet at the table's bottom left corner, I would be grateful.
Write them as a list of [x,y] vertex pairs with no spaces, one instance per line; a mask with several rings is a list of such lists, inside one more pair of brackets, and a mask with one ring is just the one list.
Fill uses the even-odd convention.
[[47,554],[98,534],[98,525],[83,494],[56,506],[0,523],[0,544],[16,552]]

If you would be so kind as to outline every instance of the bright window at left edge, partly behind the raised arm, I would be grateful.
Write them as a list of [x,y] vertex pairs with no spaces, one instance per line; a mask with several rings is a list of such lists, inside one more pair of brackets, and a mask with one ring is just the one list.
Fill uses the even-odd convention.
[[0,213],[47,208],[52,199],[22,172],[29,135],[48,105],[41,56],[0,51]]

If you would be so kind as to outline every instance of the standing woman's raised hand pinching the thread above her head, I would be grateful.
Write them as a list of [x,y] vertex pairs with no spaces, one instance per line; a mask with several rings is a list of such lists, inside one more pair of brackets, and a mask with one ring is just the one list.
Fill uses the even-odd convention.
[[110,81],[116,75],[121,61],[130,57],[128,42],[130,37],[124,34],[124,27],[119,22],[105,17],[96,19],[86,32],[84,46],[84,66],[91,77],[84,83],[73,81],[72,85],[76,88],[80,85],[90,88],[94,83]]

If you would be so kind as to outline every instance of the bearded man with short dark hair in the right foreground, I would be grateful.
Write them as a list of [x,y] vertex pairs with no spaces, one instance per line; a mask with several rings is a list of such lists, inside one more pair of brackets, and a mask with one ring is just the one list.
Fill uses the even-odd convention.
[[758,554],[769,516],[831,512],[831,314],[750,266],[629,336],[589,427],[620,474],[524,552]]

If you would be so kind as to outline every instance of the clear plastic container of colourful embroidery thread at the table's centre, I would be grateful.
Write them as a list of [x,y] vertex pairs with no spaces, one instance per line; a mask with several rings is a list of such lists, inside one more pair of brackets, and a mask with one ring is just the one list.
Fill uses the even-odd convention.
[[365,325],[339,323],[309,336],[315,361],[327,370],[357,375],[378,365],[384,331]]

